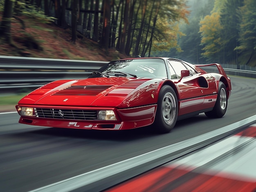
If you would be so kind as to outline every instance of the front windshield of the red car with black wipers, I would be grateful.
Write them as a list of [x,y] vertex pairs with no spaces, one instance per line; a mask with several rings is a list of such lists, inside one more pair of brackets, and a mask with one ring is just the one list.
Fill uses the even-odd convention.
[[[137,77],[167,78],[165,62],[162,59],[117,60],[106,64],[98,71],[104,75],[92,73],[88,78],[103,77],[106,76],[105,74],[114,75],[109,72],[124,72],[131,77],[136,75]],[[115,74],[117,75],[118,73]]]

